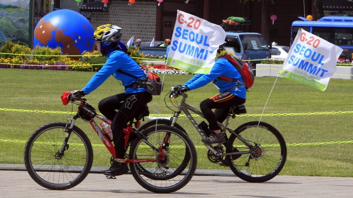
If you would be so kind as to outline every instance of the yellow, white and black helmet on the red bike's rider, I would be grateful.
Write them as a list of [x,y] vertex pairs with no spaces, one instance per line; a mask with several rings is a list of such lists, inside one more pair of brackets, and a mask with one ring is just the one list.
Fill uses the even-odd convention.
[[97,29],[94,31],[92,39],[96,41],[105,41],[105,42],[118,42],[121,38],[121,31],[122,28],[111,25],[105,24],[98,26]]

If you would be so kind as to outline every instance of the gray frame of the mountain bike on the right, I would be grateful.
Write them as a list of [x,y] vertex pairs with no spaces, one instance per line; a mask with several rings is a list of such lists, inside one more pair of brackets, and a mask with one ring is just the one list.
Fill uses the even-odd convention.
[[[205,119],[203,113],[201,111],[199,111],[198,109],[194,108],[193,106],[187,104],[185,102],[186,98],[188,97],[187,94],[182,94],[182,99],[178,105],[178,110],[174,112],[173,114],[173,118],[172,118],[172,124],[171,126],[174,126],[177,118],[179,116],[179,114],[182,112],[185,113],[185,115],[187,116],[187,118],[190,120],[190,122],[192,123],[192,125],[196,128],[197,132],[200,134],[200,136],[202,138],[207,138],[206,135],[204,134],[204,132],[201,130],[201,128],[198,126],[198,124],[196,123],[195,119],[192,117],[192,115],[190,114],[190,111],[196,113],[197,115],[200,115],[202,118]],[[172,98],[174,100],[174,102],[176,102],[176,98]],[[232,108],[232,107],[230,107]],[[189,111],[190,110],[190,111]],[[235,133],[233,130],[227,128],[228,123],[229,123],[229,119],[230,119],[230,115],[228,114],[225,124],[218,122],[218,125],[224,129],[227,129],[230,133],[234,134],[237,138],[239,138],[240,141],[242,141],[245,145],[247,145],[249,148],[252,148],[253,146],[248,143],[248,141],[246,141],[244,138],[242,138],[240,135],[238,135],[237,133]],[[243,152],[229,152],[229,153],[219,153],[215,147],[213,147],[212,145],[209,144],[204,144],[208,149],[210,149],[216,156],[223,156],[223,155],[233,155],[233,154],[248,154],[249,151],[243,151]],[[222,144],[218,144],[218,148],[221,147]]]

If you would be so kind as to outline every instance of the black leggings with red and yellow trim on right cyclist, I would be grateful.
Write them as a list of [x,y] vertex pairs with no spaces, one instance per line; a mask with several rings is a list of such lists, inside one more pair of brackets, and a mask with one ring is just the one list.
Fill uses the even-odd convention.
[[[211,130],[218,130],[218,122],[223,122],[228,115],[229,108],[234,105],[244,104],[245,99],[239,98],[230,92],[218,94],[201,101],[200,109],[209,123]],[[213,112],[212,109],[215,109]]]

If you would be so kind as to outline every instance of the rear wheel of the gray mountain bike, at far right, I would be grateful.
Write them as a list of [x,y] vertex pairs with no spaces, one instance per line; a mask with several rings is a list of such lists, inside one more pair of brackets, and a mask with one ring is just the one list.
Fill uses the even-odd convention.
[[253,121],[239,126],[234,132],[253,145],[253,148],[248,148],[234,134],[228,139],[227,153],[234,148],[252,152],[226,156],[229,167],[239,178],[260,183],[272,179],[282,170],[287,148],[276,128],[265,122]]

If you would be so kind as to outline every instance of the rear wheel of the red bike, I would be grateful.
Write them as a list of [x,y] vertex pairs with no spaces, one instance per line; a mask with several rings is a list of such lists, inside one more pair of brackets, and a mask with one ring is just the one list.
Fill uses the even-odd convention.
[[[150,127],[141,133],[157,148],[163,143],[166,133],[171,135],[169,145],[164,150],[166,160],[129,164],[135,180],[143,188],[154,193],[172,193],[184,187],[191,180],[197,165],[196,149],[190,138],[175,127],[166,125]],[[158,156],[159,154],[141,139],[135,140],[130,146],[130,159],[156,159]]]

